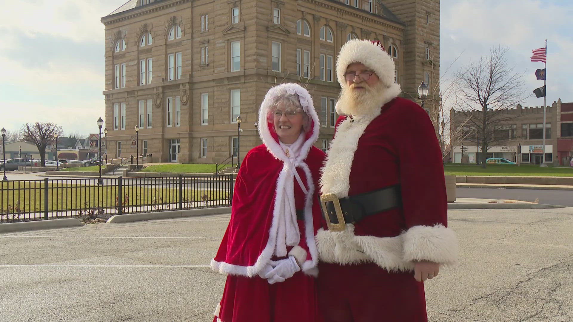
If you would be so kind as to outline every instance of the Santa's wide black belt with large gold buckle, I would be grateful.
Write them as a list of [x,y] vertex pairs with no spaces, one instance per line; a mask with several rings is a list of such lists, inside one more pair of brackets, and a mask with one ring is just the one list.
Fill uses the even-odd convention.
[[336,198],[335,194],[320,196],[320,205],[328,230],[342,231],[346,223],[394,209],[402,205],[400,186],[391,186],[350,197]]

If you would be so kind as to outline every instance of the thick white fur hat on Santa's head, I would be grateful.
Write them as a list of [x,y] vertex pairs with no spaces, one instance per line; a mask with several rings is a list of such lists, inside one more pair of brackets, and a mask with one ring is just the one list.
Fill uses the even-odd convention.
[[394,83],[394,60],[384,51],[383,46],[370,40],[352,39],[347,41],[336,60],[336,76],[341,87],[347,87],[344,73],[348,65],[362,62],[376,73],[383,84],[391,87]]

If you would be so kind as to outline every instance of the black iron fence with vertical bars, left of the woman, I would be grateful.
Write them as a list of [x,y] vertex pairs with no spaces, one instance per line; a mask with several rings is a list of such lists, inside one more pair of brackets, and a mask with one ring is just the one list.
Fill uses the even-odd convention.
[[0,181],[0,222],[226,207],[233,175]]

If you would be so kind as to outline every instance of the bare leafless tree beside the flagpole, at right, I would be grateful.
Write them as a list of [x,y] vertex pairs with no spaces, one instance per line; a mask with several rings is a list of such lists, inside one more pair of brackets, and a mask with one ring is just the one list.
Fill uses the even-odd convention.
[[519,117],[507,110],[527,98],[525,72],[515,72],[515,66],[509,66],[507,52],[507,48],[500,46],[492,48],[489,56],[471,61],[456,72],[460,110],[475,131],[475,135],[469,135],[466,140],[481,147],[484,168],[488,149],[508,139],[500,133]]

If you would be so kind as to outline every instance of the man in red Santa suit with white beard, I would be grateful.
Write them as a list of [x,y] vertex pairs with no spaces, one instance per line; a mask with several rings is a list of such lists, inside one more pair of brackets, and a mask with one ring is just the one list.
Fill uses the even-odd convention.
[[398,97],[394,70],[379,42],[350,40],[337,57],[340,117],[315,237],[325,321],[427,321],[423,281],[457,261],[434,127]]

